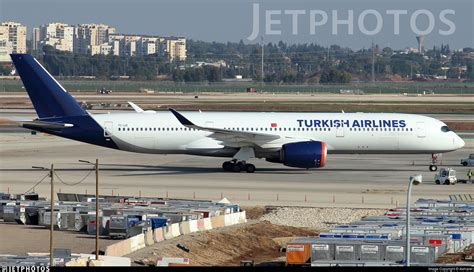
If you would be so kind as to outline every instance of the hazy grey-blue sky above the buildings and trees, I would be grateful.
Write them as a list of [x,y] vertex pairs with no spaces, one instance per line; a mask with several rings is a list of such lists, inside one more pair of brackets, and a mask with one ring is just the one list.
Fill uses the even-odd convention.
[[417,47],[416,36],[422,33],[426,48],[474,47],[473,0],[0,0],[0,21],[10,20],[26,25],[28,33],[59,21],[217,42],[260,43],[263,38],[357,50],[373,41],[403,49]]

